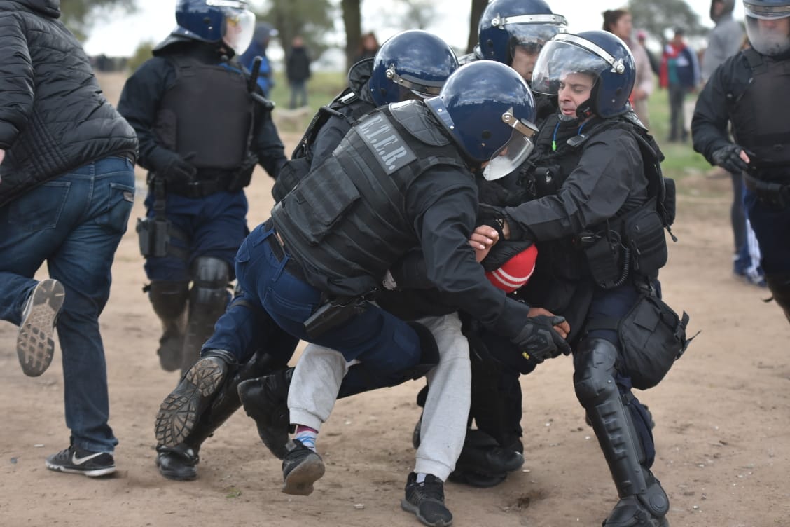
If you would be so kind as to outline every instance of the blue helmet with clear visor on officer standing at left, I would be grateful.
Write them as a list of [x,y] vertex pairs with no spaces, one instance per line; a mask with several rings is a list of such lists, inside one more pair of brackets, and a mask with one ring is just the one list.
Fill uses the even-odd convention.
[[224,42],[241,55],[255,31],[255,15],[246,0],[179,0],[173,33],[201,42]]

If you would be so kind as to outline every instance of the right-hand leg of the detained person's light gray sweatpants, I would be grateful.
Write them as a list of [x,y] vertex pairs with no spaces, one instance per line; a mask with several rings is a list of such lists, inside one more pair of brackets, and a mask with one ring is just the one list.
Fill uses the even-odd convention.
[[414,472],[447,480],[455,469],[466,438],[472,366],[469,344],[461,334],[457,314],[419,319],[431,329],[439,349],[439,363],[428,372],[428,397],[423,408]]

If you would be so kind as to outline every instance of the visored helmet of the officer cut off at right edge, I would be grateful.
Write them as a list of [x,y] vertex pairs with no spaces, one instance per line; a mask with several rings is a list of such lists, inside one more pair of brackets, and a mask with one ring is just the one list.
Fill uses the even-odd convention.
[[790,51],[790,0],[743,0],[746,34],[761,55],[776,57]]

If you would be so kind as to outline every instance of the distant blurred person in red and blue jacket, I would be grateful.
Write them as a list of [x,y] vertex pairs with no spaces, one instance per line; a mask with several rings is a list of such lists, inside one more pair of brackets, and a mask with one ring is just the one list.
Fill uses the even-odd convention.
[[667,141],[687,141],[689,132],[683,103],[686,94],[697,89],[699,63],[697,54],[687,46],[683,28],[675,29],[675,36],[664,47],[661,57],[660,85],[669,90],[669,137]]

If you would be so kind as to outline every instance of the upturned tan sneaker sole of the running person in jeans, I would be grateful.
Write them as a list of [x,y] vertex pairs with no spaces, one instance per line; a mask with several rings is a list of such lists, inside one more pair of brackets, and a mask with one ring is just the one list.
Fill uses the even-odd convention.
[[33,288],[30,311],[17,333],[17,356],[24,375],[38,377],[47,371],[55,355],[52,334],[66,295],[58,280],[43,280]]

